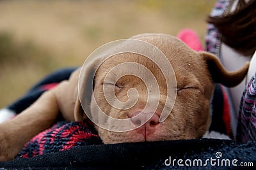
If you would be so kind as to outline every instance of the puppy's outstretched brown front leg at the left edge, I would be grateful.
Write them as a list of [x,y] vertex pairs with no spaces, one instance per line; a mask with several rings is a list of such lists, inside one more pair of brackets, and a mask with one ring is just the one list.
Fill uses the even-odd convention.
[[56,96],[50,90],[17,117],[0,124],[0,161],[12,160],[29,139],[54,124],[58,113]]

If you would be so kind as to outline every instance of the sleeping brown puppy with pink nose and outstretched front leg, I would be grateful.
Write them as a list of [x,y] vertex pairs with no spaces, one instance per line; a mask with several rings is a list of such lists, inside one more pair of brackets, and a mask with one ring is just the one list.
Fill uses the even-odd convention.
[[[98,117],[101,110],[109,117],[131,118],[131,124],[142,125],[132,131],[115,132],[106,130],[108,127],[111,128],[111,124],[107,124],[107,128],[97,124],[95,128],[104,143],[201,138],[211,123],[210,100],[214,83],[222,83],[227,87],[235,86],[243,80],[248,70],[249,64],[247,63],[238,71],[228,73],[216,56],[206,52],[195,52],[179,39],[166,34],[140,34],[131,39],[140,39],[156,46],[172,64],[175,78],[171,77],[170,79],[177,81],[177,86],[175,83],[169,87],[175,89],[175,92],[177,89],[173,106],[166,103],[170,97],[168,96],[166,77],[164,77],[161,68],[152,60],[140,53],[117,53],[109,58],[106,57],[107,55],[102,55],[98,59],[91,60],[90,66],[82,69],[82,71],[81,68],[74,71],[69,80],[63,81],[55,89],[45,92],[17,117],[0,124],[0,160],[13,159],[29,139],[54,124],[58,113],[61,113],[68,121],[82,121],[88,117]],[[129,45],[131,44],[128,41],[128,43],[118,45],[116,48],[124,48],[126,51]],[[133,47],[131,45],[131,48]],[[109,52],[115,50],[115,48],[111,48]],[[145,51],[147,50],[145,49]],[[159,60],[162,59],[159,58]],[[148,90],[145,81],[141,78],[124,74],[116,81],[115,76],[118,72],[122,72],[120,70],[114,71],[116,74],[109,75],[109,81],[104,81],[113,67],[125,62],[135,62],[147,67],[156,78],[160,94],[159,102],[152,96],[150,98],[152,103],[158,103],[156,110],[143,111],[147,104]],[[99,63],[100,66],[97,69],[95,66],[98,66]],[[137,67],[125,65],[123,68],[129,71],[138,70]],[[96,69],[96,74],[93,76],[91,73]],[[165,67],[164,69],[168,68]],[[79,78],[80,71],[81,76]],[[148,75],[145,73],[143,74],[146,81],[154,84],[152,78],[147,77]],[[86,93],[88,88],[86,82],[90,79],[93,81],[93,96],[90,92]],[[80,87],[78,87],[78,82],[81,82]],[[104,86],[107,91],[104,90]],[[126,107],[127,109],[119,110],[113,107],[104,94],[110,93],[112,89],[114,96],[125,103],[129,97],[132,97],[129,94],[131,88],[136,89],[139,96],[136,104],[130,108]],[[81,96],[79,99],[80,93],[78,91],[85,93],[85,101],[90,100],[88,107],[91,113],[86,113],[87,115],[84,114],[83,110],[84,99]],[[165,105],[167,109],[164,110]],[[142,116],[136,117],[141,111],[143,111]],[[162,111],[168,113],[168,117],[163,122],[159,122]],[[148,118],[151,113],[152,117]],[[148,121],[146,124],[142,124],[143,120]],[[108,122],[108,120],[100,121]]]

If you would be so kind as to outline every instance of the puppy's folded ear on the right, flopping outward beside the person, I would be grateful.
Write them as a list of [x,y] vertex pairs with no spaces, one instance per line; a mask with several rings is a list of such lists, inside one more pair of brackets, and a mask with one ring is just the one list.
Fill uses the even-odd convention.
[[209,73],[215,83],[221,83],[226,87],[234,87],[243,81],[247,74],[249,62],[246,62],[243,67],[237,71],[228,72],[216,55],[207,52],[199,52],[207,63]]

